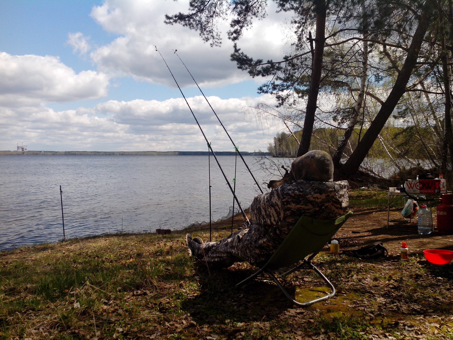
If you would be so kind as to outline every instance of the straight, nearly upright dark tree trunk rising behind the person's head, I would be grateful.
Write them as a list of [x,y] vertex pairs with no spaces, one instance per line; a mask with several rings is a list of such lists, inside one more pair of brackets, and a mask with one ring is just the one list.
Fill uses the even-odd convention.
[[324,42],[326,32],[326,13],[327,7],[325,0],[317,0],[315,3],[316,12],[316,34],[314,56],[312,63],[312,74],[310,80],[310,89],[308,91],[307,109],[305,110],[304,129],[300,140],[297,156],[302,156],[308,152],[313,133],[314,114],[318,102],[319,83],[321,81],[321,70],[323,67]]

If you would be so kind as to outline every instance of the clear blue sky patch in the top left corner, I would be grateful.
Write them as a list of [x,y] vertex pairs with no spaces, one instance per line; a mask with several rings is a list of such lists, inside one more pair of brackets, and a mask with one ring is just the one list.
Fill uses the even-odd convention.
[[0,1],[0,47],[10,54],[59,56],[80,72],[93,68],[89,58],[79,58],[66,44],[68,32],[84,31],[98,44],[118,35],[106,32],[89,16],[102,1]]

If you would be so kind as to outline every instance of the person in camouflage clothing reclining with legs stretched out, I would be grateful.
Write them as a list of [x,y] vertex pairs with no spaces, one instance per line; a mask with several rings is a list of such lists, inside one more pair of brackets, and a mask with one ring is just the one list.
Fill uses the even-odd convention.
[[333,161],[324,151],[309,151],[296,158],[290,180],[255,196],[250,206],[251,225],[218,242],[203,243],[186,235],[188,253],[210,269],[247,261],[262,266],[283,242],[300,216],[335,219],[347,213],[348,182],[333,182]]

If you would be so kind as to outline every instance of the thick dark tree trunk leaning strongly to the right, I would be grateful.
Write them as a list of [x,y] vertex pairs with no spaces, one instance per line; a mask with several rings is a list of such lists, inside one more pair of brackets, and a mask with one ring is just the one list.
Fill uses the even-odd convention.
[[368,151],[370,151],[371,146],[373,146],[374,141],[376,141],[377,136],[386,124],[386,121],[398,104],[401,96],[405,93],[406,85],[415,67],[415,63],[417,62],[424,35],[429,26],[429,21],[431,19],[431,15],[429,15],[430,12],[431,2],[428,0],[424,5],[417,29],[414,32],[410,47],[407,51],[406,60],[398,74],[398,78],[396,78],[395,85],[386,101],[381,105],[381,109],[377,113],[376,118],[371,122],[370,127],[357,145],[356,150],[354,150],[351,157],[349,157],[342,167],[342,172],[346,177],[350,177],[357,172]]

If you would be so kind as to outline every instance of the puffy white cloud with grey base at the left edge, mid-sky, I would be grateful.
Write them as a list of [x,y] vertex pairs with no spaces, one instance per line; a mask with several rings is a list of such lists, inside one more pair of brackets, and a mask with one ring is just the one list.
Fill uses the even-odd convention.
[[105,97],[108,84],[105,73],[75,73],[58,57],[0,52],[0,105],[4,107]]

